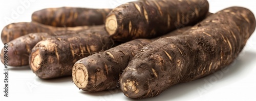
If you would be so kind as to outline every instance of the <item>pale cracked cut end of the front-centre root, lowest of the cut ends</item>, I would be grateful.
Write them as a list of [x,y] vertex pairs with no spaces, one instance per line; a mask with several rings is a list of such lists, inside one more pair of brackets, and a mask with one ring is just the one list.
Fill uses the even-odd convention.
[[72,70],[72,79],[75,85],[80,89],[88,84],[88,71],[86,66],[81,63],[75,64]]

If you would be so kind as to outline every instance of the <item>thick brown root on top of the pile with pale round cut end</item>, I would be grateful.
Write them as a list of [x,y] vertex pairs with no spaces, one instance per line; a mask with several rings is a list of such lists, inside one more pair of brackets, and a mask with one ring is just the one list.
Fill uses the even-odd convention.
[[113,9],[105,29],[115,41],[154,38],[196,24],[208,13],[206,0],[135,1]]

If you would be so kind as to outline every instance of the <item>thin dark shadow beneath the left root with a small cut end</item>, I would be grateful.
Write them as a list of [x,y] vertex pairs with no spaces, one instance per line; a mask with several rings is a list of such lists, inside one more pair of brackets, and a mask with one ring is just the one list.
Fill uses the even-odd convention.
[[37,78],[37,79],[38,79],[38,81],[46,82],[46,83],[63,83],[63,82],[72,82],[73,83],[71,76],[54,78],[54,79],[40,79],[40,78]]

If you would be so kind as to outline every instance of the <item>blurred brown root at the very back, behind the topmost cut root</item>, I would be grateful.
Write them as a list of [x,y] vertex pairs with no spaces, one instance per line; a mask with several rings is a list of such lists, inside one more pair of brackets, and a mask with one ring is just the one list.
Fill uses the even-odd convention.
[[74,27],[104,24],[106,15],[112,9],[89,8],[47,8],[32,14],[32,21],[58,27]]

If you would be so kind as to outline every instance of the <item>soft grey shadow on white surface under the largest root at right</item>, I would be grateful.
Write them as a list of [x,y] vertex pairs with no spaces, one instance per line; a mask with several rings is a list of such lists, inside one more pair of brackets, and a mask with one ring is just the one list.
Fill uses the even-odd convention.
[[[194,81],[174,85],[158,96],[140,100],[191,100],[201,97],[206,93],[221,89],[224,86],[229,86],[250,75],[254,69],[252,64],[255,60],[255,52],[242,51],[230,65],[222,70],[216,71],[214,74]],[[126,99],[137,100],[128,97]]]

